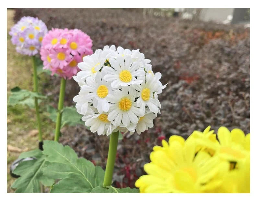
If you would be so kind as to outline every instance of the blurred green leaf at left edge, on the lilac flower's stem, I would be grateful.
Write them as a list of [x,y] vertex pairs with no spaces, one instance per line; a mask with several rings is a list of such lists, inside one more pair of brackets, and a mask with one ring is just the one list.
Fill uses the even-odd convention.
[[31,92],[26,89],[20,89],[19,87],[15,87],[11,89],[11,95],[9,97],[8,105],[14,106],[17,104],[22,104],[22,105],[27,105],[29,107],[34,107],[35,97],[39,99],[38,100],[39,103],[41,102],[41,99],[47,98],[46,96],[41,95],[37,92]]

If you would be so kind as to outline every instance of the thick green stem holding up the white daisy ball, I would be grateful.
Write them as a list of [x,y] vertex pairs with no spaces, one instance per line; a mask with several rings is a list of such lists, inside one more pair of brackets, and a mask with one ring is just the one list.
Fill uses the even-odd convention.
[[106,171],[105,171],[105,176],[103,181],[104,187],[110,186],[112,183],[112,176],[113,176],[114,165],[116,160],[118,135],[119,135],[119,131],[112,133],[110,136],[108,160],[107,160]]

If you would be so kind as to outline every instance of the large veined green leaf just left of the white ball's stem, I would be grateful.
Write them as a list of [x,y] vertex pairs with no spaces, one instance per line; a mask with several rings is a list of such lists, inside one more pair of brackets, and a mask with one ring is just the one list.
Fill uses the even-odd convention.
[[69,146],[44,141],[43,149],[46,160],[50,162],[43,168],[43,174],[61,179],[51,193],[90,193],[94,188],[103,186],[104,170],[84,158],[77,158]]

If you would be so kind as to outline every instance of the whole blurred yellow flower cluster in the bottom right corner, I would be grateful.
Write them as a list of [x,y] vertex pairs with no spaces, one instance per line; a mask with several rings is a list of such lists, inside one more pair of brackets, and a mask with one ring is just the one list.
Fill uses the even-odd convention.
[[250,193],[250,133],[220,127],[217,140],[210,128],[155,146],[140,193]]

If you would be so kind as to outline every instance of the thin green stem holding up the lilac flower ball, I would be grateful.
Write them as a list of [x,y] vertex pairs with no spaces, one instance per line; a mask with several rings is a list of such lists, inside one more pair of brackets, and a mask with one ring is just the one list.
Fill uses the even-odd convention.
[[[32,66],[33,66],[33,81],[34,81],[34,92],[38,92],[38,84],[37,84],[37,66],[36,66],[36,57],[32,56]],[[35,97],[35,107],[36,107],[36,116],[37,116],[37,122],[38,122],[38,136],[39,136],[39,142],[42,142],[42,131],[41,131],[41,121],[39,116],[39,106],[38,106],[38,100],[37,97]]]

